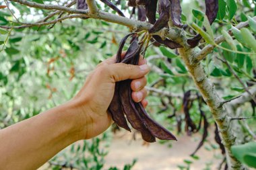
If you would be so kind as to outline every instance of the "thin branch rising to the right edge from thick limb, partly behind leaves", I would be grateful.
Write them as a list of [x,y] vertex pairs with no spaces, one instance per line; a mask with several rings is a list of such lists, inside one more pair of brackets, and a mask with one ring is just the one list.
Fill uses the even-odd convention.
[[[254,20],[256,20],[256,16],[253,17]],[[247,22],[241,22],[240,24],[238,24],[236,26],[236,28],[238,30],[240,30],[241,28],[247,27],[248,26],[248,21]],[[231,30],[229,30],[229,32],[232,34]],[[218,38],[215,39],[215,43],[216,44],[220,44],[221,42],[224,42],[225,38],[224,36],[219,36]],[[214,49],[214,45],[207,45],[205,46],[200,52],[198,52],[197,54],[195,54],[195,57],[197,58],[197,60],[203,60],[205,58],[205,56],[207,56],[207,54],[210,54],[212,52],[212,50]]]

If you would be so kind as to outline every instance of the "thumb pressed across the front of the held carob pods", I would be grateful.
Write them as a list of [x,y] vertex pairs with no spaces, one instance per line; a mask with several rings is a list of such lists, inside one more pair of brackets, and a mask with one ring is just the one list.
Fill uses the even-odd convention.
[[124,63],[116,63],[108,65],[110,76],[114,81],[123,81],[126,79],[139,79],[150,71],[148,65],[127,65]]

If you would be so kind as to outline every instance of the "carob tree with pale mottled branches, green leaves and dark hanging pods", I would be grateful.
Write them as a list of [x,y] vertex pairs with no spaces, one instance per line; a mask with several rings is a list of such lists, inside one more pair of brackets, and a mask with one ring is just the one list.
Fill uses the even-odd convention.
[[[202,65],[201,62],[201,60],[203,60],[207,54],[213,52],[214,47],[218,46],[218,44],[226,41],[228,42],[228,44],[231,44],[230,46],[232,46],[233,37],[230,37],[232,36],[232,34],[234,34],[234,38],[236,38],[238,42],[241,42],[241,38],[243,38],[243,36],[248,37],[249,41],[247,41],[246,43],[241,42],[241,44],[245,44],[245,46],[251,47],[253,51],[256,52],[255,43],[253,43],[255,42],[255,38],[251,33],[248,33],[248,29],[245,28],[247,26],[250,26],[251,30],[253,30],[253,32],[256,32],[256,18],[249,17],[249,22],[241,22],[241,24],[237,24],[236,19],[232,20],[234,17],[234,11],[236,10],[232,8],[234,7],[234,1],[227,1],[227,3],[225,1],[221,1],[222,5],[227,5],[227,8],[224,8],[224,10],[222,8],[225,13],[220,13],[220,18],[224,18],[223,15],[226,15],[226,10],[232,11],[227,17],[230,22],[235,23],[234,26],[236,27],[232,28],[232,30],[230,30],[230,32],[228,32],[224,36],[220,36],[215,40],[211,37],[211,35],[209,35],[209,32],[210,25],[214,23],[214,20],[216,19],[218,14],[218,0],[205,0],[205,15],[209,23],[207,26],[205,26],[205,28],[200,28],[200,26],[195,27],[195,30],[197,30],[199,34],[197,34],[193,38],[189,36],[189,34],[191,34],[191,30],[188,23],[185,23],[183,26],[183,22],[181,22],[182,9],[181,2],[179,0],[129,0],[127,1],[127,4],[130,7],[133,7],[131,17],[137,14],[137,20],[125,17],[121,9],[119,9],[119,7],[117,7],[114,3],[108,0],[100,1],[110,7],[110,9],[116,11],[119,15],[107,13],[106,11],[100,10],[97,6],[96,1],[94,0],[77,0],[77,9],[72,8],[70,4],[64,6],[49,5],[49,3],[42,4],[26,0],[9,1],[11,1],[11,3],[17,2],[28,7],[36,7],[38,9],[55,11],[49,13],[49,15],[33,24],[18,21],[17,23],[15,23],[15,25],[8,25],[9,23],[7,22],[7,24],[3,24],[3,26],[0,26],[0,28],[3,29],[13,30],[20,28],[29,28],[32,26],[38,26],[40,28],[40,26],[55,24],[57,22],[61,22],[65,19],[71,18],[102,19],[106,22],[113,22],[121,24],[123,26],[128,26],[129,28],[131,28],[131,31],[133,33],[125,36],[125,38],[121,40],[119,50],[117,52],[116,62],[137,65],[139,55],[141,53],[145,54],[146,48],[149,46],[150,40],[156,46],[162,45],[170,49],[177,49],[177,52],[185,62],[187,70],[189,71],[198,91],[201,93],[201,97],[196,97],[197,102],[199,102],[198,108],[199,114],[201,116],[199,120],[199,126],[196,126],[195,122],[193,122],[189,112],[191,105],[193,104],[193,99],[191,100],[191,91],[185,92],[185,95],[183,96],[183,110],[185,112],[185,123],[187,127],[187,132],[197,132],[201,128],[201,122],[203,122],[203,136],[201,141],[199,142],[199,145],[197,146],[196,151],[203,144],[203,141],[207,136],[207,128],[209,126],[209,123],[207,122],[207,117],[203,112],[203,109],[201,108],[204,100],[208,108],[210,109],[210,112],[212,112],[212,116],[216,122],[216,141],[218,142],[218,144],[220,144],[220,148],[222,148],[222,153],[226,153],[226,161],[228,163],[228,167],[230,169],[246,169],[246,167],[244,167],[234,157],[234,155],[232,155],[230,150],[231,146],[236,144],[237,142],[234,129],[230,125],[230,122],[232,120],[230,116],[233,116],[234,114],[230,112],[228,113],[226,107],[224,107],[224,104],[228,102],[232,103],[232,101],[231,99],[224,101],[219,97],[216,89],[214,89],[214,85],[212,85],[210,79],[207,77],[204,71],[204,65]],[[245,1],[243,1],[243,3],[245,3]],[[116,4],[120,4],[120,1],[118,1]],[[248,3],[246,3],[245,5],[247,7],[251,7]],[[125,9],[125,7],[123,7],[123,9]],[[65,15],[52,19],[51,21],[47,21],[51,18],[54,18],[55,15],[62,15],[63,13]],[[159,17],[157,17],[158,15]],[[205,30],[207,32],[205,32]],[[141,34],[141,32],[143,34]],[[125,57],[121,58],[121,50],[123,49],[125,41],[127,40],[127,38],[129,38],[129,36],[133,36],[133,39],[131,40],[131,44],[127,50],[127,53],[125,54]],[[203,43],[200,44],[201,49],[195,48],[198,46],[202,37],[205,40],[206,44],[208,43],[208,45],[205,45],[202,40]],[[220,48],[220,46],[218,47]],[[234,48],[232,49],[234,51],[238,49],[236,46],[232,46],[232,48]],[[225,47],[222,47],[222,50],[229,50],[229,52],[232,52],[232,50]],[[238,53],[252,54],[250,52],[250,48],[246,48],[245,51],[240,51],[240,53]],[[224,61],[225,64],[228,63],[226,62],[226,58],[225,60],[221,61]],[[249,62],[249,59],[247,60],[247,62]],[[232,67],[228,67],[228,69],[230,68]],[[236,68],[236,70],[238,69],[239,68]],[[233,103],[240,104],[247,101],[255,101],[255,85],[252,85],[252,87],[248,89],[243,84],[243,81],[241,81],[241,79],[239,79],[239,77],[234,74],[234,71],[230,70],[230,72],[232,72],[234,77],[238,79],[238,81],[243,85],[246,91],[245,93],[243,93],[243,99],[234,99]],[[253,77],[250,77],[250,75],[247,75],[247,77],[249,77],[250,80],[253,81],[253,83],[255,82],[255,79]],[[168,130],[160,126],[160,124],[156,123],[148,116],[141,103],[135,103],[131,99],[130,83],[131,80],[127,80],[118,82],[116,84],[113,101],[111,101],[108,108],[108,111],[110,112],[113,120],[117,123],[117,125],[130,131],[131,129],[127,123],[128,120],[131,126],[136,130],[139,130],[139,132],[141,132],[142,138],[148,142],[154,142],[156,138],[176,139],[170,132],[168,132]],[[170,105],[173,105],[171,100],[169,101]],[[254,103],[252,103],[253,108],[255,107]],[[232,105],[232,108],[235,108],[234,105]],[[182,120],[180,116],[176,115],[176,110],[174,114],[170,116],[170,118],[174,117],[177,118],[177,124],[180,130]],[[220,136],[218,132],[220,132]],[[222,142],[220,142],[220,140]],[[195,154],[195,152],[193,154]]]

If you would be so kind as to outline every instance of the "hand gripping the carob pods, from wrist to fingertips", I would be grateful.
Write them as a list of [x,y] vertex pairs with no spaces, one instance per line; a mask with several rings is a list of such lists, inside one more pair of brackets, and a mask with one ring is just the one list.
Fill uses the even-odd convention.
[[[122,53],[122,56],[125,52]],[[101,62],[90,75],[88,75],[84,87],[71,100],[75,112],[81,116],[82,134],[84,139],[93,138],[104,132],[113,120],[108,114],[108,106],[113,99],[115,82],[125,79],[131,81],[133,90],[131,97],[135,102],[140,102],[144,107],[148,104],[145,99],[145,75],[150,71],[146,60],[139,58],[139,66],[115,63],[116,56]]]

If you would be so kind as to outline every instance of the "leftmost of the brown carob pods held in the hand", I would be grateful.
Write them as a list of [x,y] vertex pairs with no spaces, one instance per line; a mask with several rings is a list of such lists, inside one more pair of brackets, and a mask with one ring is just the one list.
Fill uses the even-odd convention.
[[[117,51],[116,63],[121,62],[122,60],[121,54],[122,54],[123,46],[125,45],[125,41],[127,40],[127,38],[129,38],[129,36],[131,35],[133,34],[128,34],[121,40],[119,45],[119,50]],[[112,119],[116,122],[118,126],[131,132],[131,129],[129,128],[127,121],[125,119],[125,116],[123,114],[123,110],[120,102],[121,101],[119,99],[119,82],[117,82],[115,84],[115,93],[114,93],[113,99],[110,102],[110,105],[108,107],[108,112],[110,112]]]

